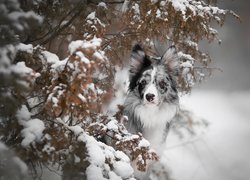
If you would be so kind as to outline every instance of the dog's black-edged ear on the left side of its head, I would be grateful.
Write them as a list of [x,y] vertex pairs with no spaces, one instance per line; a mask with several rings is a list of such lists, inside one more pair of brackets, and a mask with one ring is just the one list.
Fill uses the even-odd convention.
[[130,77],[137,74],[143,67],[151,65],[151,61],[147,58],[145,51],[140,45],[135,45],[132,50],[130,59]]

